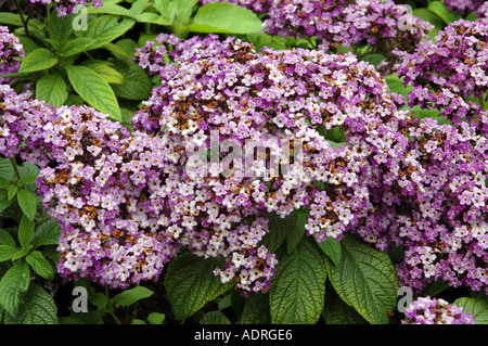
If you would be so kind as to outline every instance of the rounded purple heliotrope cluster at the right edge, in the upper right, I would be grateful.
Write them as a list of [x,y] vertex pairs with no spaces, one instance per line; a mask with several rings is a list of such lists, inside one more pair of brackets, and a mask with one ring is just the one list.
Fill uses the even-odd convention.
[[401,53],[398,75],[413,86],[409,105],[437,108],[453,124],[479,115],[488,90],[487,40],[488,22],[460,20],[441,30],[435,44]]

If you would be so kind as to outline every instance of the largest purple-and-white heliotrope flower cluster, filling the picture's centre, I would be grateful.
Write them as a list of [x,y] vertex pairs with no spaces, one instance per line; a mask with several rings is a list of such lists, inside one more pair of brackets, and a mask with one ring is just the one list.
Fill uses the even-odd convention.
[[[296,208],[310,208],[307,233],[323,241],[341,239],[364,223],[375,203],[388,197],[394,202],[395,196],[384,195],[383,185],[385,180],[406,180],[399,176],[399,159],[407,138],[397,128],[408,114],[397,111],[372,65],[352,54],[301,49],[265,48],[257,54],[248,43],[232,38],[219,42],[216,36],[205,38],[205,44],[200,38],[184,44],[174,40],[163,36],[158,39],[163,46],[151,43],[139,52],[141,66],[157,71],[162,86],[143,102],[132,127],[180,143],[175,162],[187,170],[179,177],[184,183],[172,191],[180,201],[174,208],[184,212],[183,220],[205,234],[196,238],[192,229],[185,235],[197,240],[202,255],[216,252],[209,230],[240,229],[244,220],[262,214],[286,217]],[[160,63],[167,52],[175,54],[176,63]],[[325,138],[334,129],[347,137],[339,148],[332,148]],[[279,175],[266,176],[271,169],[267,164],[254,165],[248,176],[224,175],[224,159],[214,165],[202,159],[211,155],[213,145],[220,148],[218,155],[228,157],[224,143],[246,148],[269,139],[303,148],[301,154],[294,153],[298,161]],[[205,149],[203,156],[193,154],[195,148]],[[269,148],[278,157],[285,156],[280,143],[271,142]],[[235,168],[246,162],[233,164]],[[198,217],[191,214],[189,194],[194,191],[208,198],[201,204]],[[389,221],[384,221],[381,231],[388,227]],[[260,228],[258,240],[267,231]],[[233,236],[226,232],[218,244],[227,248]],[[231,266],[233,256],[228,257]],[[234,271],[219,273],[226,280],[235,277]]]

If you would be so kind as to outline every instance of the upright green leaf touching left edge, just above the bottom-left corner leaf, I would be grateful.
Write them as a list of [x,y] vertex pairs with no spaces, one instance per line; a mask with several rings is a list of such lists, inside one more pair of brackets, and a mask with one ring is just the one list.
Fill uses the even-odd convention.
[[15,261],[0,280],[0,306],[14,316],[21,305],[23,293],[30,282],[29,266],[25,260]]

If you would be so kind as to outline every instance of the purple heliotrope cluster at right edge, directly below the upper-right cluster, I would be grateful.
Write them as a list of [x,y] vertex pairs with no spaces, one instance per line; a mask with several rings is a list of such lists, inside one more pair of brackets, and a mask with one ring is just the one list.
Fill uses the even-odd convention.
[[[487,121],[484,113],[479,124]],[[488,287],[488,157],[486,136],[477,131],[478,124],[439,126],[433,119],[409,129],[406,163],[419,167],[410,178],[415,189],[398,193],[388,236],[406,248],[397,274],[416,292],[434,281]]]

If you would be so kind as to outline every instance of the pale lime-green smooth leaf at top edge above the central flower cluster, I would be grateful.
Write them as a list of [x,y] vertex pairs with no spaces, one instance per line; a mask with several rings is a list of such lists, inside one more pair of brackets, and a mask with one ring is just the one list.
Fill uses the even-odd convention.
[[229,2],[214,2],[198,9],[189,29],[194,33],[257,34],[262,30],[262,23],[251,10]]

